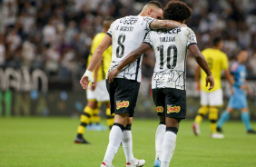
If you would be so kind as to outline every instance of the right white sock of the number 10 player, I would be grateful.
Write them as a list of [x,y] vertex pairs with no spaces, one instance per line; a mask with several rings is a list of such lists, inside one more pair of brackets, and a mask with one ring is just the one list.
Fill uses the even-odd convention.
[[161,167],[169,167],[176,146],[176,137],[175,133],[166,131],[162,142]]

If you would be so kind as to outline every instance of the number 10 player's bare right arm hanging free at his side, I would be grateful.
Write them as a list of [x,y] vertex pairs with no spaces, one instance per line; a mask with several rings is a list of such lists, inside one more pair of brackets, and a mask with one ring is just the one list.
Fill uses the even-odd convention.
[[197,44],[190,45],[189,50],[191,51],[192,56],[194,57],[196,63],[199,64],[199,66],[202,68],[202,70],[205,72],[205,74],[207,74],[206,87],[208,86],[208,83],[210,83],[209,90],[211,90],[214,87],[214,80],[212,77],[212,72],[211,72],[204,56],[200,52]]

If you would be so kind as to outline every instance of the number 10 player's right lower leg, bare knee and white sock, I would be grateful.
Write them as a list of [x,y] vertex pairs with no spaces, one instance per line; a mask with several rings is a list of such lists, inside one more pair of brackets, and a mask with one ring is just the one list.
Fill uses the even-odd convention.
[[162,142],[161,167],[169,167],[176,146],[176,137],[180,121],[174,118],[165,118],[166,133]]

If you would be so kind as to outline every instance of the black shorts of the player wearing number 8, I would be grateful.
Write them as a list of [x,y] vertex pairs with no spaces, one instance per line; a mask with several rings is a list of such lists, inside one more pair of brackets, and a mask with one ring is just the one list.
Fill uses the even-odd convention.
[[106,80],[107,91],[110,96],[111,113],[129,113],[133,117],[140,83],[123,78],[114,78],[112,83]]

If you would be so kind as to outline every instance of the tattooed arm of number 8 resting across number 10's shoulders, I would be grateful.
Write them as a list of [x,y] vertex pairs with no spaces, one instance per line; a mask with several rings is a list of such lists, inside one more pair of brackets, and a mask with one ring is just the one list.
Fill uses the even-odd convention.
[[172,29],[177,27],[187,27],[187,25],[180,24],[178,22],[172,21],[172,20],[153,20],[150,27],[155,29]]

